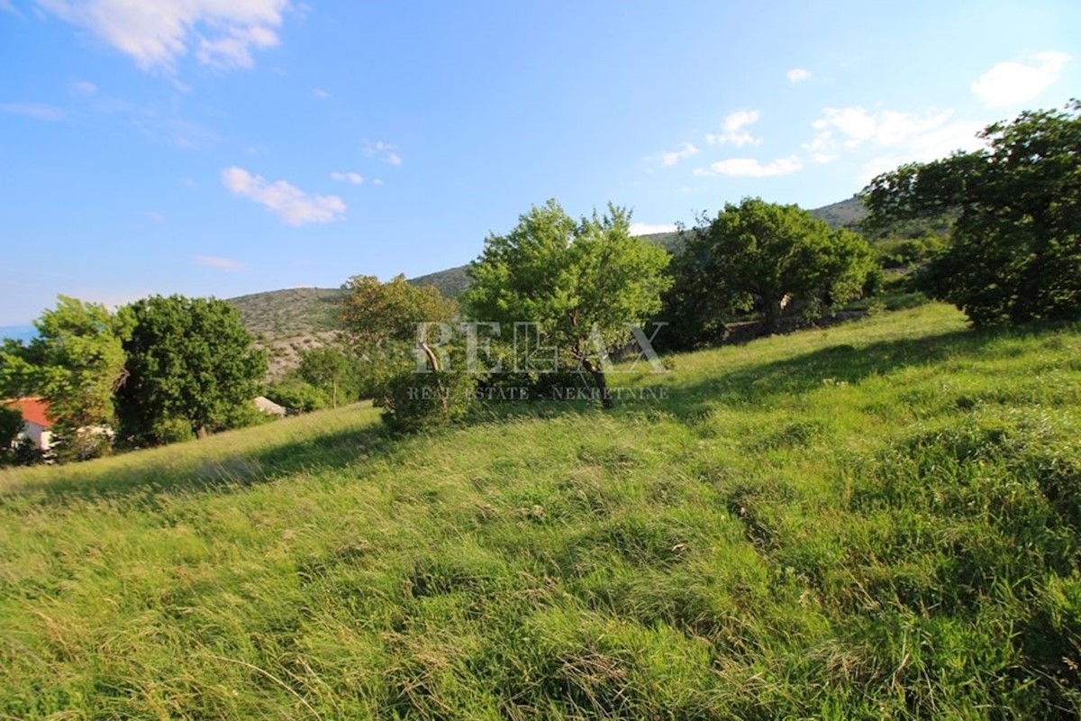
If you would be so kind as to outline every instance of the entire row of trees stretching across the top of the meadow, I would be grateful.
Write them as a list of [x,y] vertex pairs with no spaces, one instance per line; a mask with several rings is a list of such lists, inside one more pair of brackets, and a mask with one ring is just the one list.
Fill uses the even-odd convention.
[[[0,349],[0,389],[46,398],[56,457],[85,458],[254,423],[259,390],[294,412],[371,398],[396,430],[559,388],[608,408],[614,357],[664,371],[658,349],[719,343],[733,321],[772,333],[820,320],[881,291],[882,265],[916,268],[904,283],[974,324],[1078,319],[1081,103],[1023,112],[980,137],[980,150],[903,165],[865,188],[862,227],[877,251],[796,205],[747,198],[682,229],[672,254],[632,237],[624,208],[574,218],[551,200],[485,240],[459,302],[403,276],[349,279],[337,339],[268,387],[237,310],[174,295],[116,312],[61,296],[39,337]],[[23,457],[10,450],[16,426],[0,414],[0,456]]]

